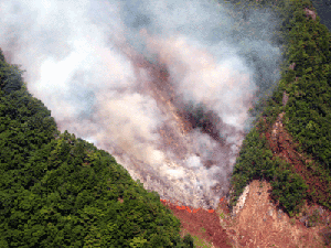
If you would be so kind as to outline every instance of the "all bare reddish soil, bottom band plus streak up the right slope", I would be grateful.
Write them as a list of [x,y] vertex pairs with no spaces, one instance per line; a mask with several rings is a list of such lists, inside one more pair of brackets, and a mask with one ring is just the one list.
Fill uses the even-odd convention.
[[[314,166],[307,166],[312,159],[297,150],[289,133],[284,129],[280,114],[266,137],[275,157],[291,163],[293,172],[302,176],[309,191],[316,191],[305,202],[302,213],[290,218],[274,204],[271,186],[266,181],[249,183],[242,206],[229,213],[227,200],[221,201],[217,209],[190,209],[163,202],[182,223],[182,236],[190,233],[213,245],[213,247],[331,247],[331,213],[317,204],[318,197],[331,197],[327,192],[331,185],[323,182]],[[327,200],[327,198],[325,198]],[[312,218],[312,216],[314,216]],[[330,239],[327,237],[330,236]]]

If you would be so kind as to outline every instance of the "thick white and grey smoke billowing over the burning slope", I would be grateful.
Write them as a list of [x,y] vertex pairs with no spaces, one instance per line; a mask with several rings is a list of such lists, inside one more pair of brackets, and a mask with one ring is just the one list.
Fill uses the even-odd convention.
[[209,0],[2,0],[0,46],[58,128],[148,190],[215,207],[248,109],[279,79],[278,21]]

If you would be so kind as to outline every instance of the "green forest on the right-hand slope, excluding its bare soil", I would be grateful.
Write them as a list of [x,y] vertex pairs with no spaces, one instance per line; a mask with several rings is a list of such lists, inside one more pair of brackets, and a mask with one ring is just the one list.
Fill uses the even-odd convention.
[[[253,2],[257,8],[273,6],[279,11],[285,63],[277,88],[252,109],[255,128],[246,136],[236,160],[231,206],[247,183],[260,179],[271,183],[274,200],[290,215],[300,211],[303,200],[331,209],[330,32],[318,15],[316,20],[307,15],[306,8],[314,10],[309,0]],[[288,98],[286,104],[284,98]],[[299,162],[305,164],[300,170],[275,155],[267,139],[281,112]]]

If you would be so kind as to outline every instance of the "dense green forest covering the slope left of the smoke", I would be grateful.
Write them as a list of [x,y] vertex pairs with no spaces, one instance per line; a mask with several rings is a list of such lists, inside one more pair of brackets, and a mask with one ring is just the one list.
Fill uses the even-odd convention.
[[107,152],[61,133],[0,50],[0,247],[193,247]]

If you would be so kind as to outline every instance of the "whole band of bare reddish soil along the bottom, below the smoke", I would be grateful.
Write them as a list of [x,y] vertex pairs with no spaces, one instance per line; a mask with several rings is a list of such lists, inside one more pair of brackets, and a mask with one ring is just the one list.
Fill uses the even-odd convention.
[[[271,186],[266,181],[253,181],[246,196],[244,207],[233,215],[227,207],[227,201],[220,203],[217,209],[209,213],[199,209],[196,213],[163,202],[182,223],[182,236],[190,233],[211,242],[215,248],[223,247],[327,247],[323,234],[330,229],[322,222],[316,226],[306,225],[303,214],[290,218],[270,197]],[[183,207],[184,208],[184,207]],[[313,208],[306,206],[307,213]],[[330,213],[320,211],[321,215]],[[329,246],[330,247],[330,246]]]

